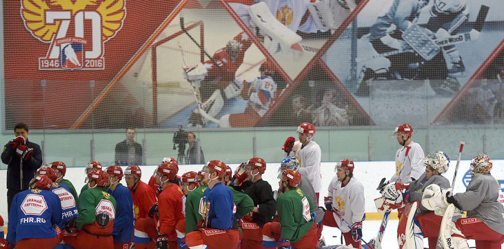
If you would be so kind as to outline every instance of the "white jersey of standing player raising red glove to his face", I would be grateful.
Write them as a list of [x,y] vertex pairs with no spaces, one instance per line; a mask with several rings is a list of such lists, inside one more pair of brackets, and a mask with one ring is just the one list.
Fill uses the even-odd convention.
[[299,172],[308,175],[308,180],[312,183],[315,193],[320,193],[322,190],[321,155],[319,144],[316,144],[314,140],[310,140],[305,147],[297,152]]

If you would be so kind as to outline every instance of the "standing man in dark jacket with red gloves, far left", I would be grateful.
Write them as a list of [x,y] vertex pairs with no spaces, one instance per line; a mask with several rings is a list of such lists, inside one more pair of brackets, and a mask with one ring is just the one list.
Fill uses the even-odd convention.
[[14,195],[28,189],[30,180],[37,174],[42,165],[42,151],[39,144],[28,141],[28,125],[17,123],[14,125],[16,138],[10,140],[3,147],[2,162],[7,164],[7,206]]

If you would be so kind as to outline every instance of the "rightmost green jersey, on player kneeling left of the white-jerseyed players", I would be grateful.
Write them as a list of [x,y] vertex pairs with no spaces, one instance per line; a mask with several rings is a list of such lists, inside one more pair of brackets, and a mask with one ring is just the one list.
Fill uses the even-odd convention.
[[312,211],[315,206],[300,188],[294,188],[280,195],[276,200],[279,213],[281,239],[296,243],[312,228]]

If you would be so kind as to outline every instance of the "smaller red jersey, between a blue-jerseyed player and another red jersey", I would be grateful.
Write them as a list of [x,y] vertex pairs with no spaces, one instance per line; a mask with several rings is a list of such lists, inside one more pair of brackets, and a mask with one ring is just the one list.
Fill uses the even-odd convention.
[[157,201],[154,190],[140,180],[137,188],[130,189],[130,191],[133,196],[134,219],[148,217],[150,207]]

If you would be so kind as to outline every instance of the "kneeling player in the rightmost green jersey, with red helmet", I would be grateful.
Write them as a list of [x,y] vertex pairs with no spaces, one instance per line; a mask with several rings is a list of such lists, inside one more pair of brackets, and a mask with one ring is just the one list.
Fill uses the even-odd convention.
[[312,221],[314,204],[301,189],[296,186],[301,182],[298,171],[288,169],[279,175],[277,199],[280,222],[269,222],[263,228],[263,246],[265,248],[314,248],[316,224]]

